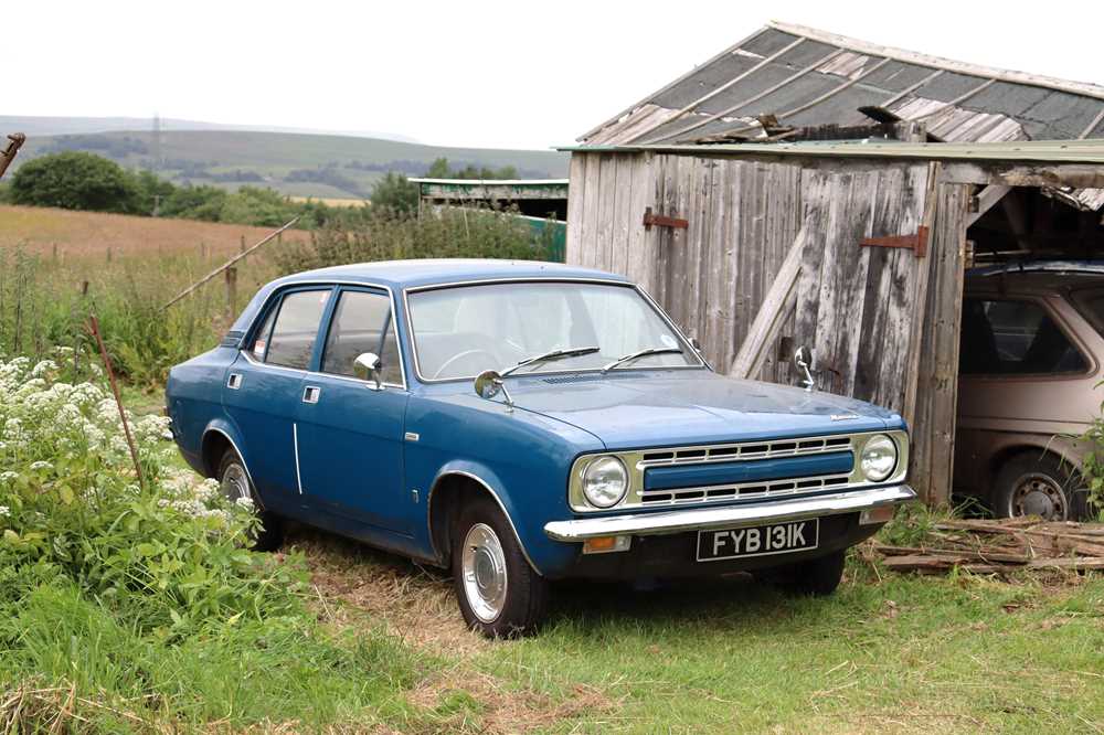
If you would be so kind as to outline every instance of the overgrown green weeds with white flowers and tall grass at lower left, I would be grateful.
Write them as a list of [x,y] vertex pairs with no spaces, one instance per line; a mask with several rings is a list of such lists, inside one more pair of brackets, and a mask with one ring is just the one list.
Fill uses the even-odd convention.
[[[71,358],[0,360],[0,729],[372,728],[396,711],[411,653],[321,628],[298,558],[246,551],[250,504],[172,469],[167,419],[130,417],[139,484],[98,376],[60,381]],[[29,689],[66,694],[11,706]]]

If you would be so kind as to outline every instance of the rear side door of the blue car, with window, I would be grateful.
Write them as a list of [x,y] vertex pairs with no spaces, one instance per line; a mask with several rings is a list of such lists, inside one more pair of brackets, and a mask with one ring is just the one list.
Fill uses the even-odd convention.
[[295,418],[322,315],[333,288],[277,294],[248,334],[223,382],[223,406],[237,426],[238,449],[266,504],[295,508]]

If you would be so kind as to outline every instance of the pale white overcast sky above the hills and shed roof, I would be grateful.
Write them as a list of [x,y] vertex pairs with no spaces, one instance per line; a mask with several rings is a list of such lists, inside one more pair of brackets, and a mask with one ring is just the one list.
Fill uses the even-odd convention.
[[[1104,2],[22,3],[0,114],[134,116],[548,148],[768,20],[1104,84]],[[1029,12],[1030,11],[1030,12]]]

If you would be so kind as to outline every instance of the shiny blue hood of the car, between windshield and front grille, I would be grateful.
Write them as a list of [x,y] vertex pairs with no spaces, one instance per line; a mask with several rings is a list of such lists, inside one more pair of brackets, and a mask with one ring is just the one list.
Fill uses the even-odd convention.
[[608,449],[745,441],[904,426],[869,403],[708,371],[581,373],[509,380],[518,408],[555,418]]

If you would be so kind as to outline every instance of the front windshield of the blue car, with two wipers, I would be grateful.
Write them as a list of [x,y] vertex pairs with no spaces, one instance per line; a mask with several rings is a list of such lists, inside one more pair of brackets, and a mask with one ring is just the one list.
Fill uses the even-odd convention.
[[507,370],[553,350],[596,347],[541,360],[514,375],[601,370],[626,354],[648,354],[617,370],[701,365],[659,312],[629,286],[511,283],[449,287],[410,295],[418,371],[425,380]]

